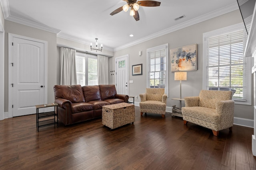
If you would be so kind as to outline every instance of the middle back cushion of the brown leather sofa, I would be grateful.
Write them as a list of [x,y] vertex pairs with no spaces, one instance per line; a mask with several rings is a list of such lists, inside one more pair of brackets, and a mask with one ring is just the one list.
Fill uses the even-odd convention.
[[82,86],[85,102],[101,100],[99,86]]

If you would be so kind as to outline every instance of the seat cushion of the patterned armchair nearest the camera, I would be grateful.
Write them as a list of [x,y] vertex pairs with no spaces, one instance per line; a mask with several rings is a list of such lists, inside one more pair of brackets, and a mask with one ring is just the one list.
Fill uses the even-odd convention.
[[212,124],[220,123],[220,114],[216,113],[215,109],[207,107],[182,107],[182,115],[200,119],[201,121],[206,121]]

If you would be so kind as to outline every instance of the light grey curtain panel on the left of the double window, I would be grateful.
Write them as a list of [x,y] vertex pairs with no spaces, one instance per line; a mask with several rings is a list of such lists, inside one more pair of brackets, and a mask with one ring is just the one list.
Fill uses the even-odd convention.
[[76,82],[76,50],[60,47],[60,85]]

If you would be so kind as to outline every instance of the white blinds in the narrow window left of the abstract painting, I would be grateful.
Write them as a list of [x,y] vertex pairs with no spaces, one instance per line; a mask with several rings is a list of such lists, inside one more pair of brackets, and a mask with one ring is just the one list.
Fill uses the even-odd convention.
[[166,85],[166,50],[149,52],[148,58],[149,87],[164,88]]

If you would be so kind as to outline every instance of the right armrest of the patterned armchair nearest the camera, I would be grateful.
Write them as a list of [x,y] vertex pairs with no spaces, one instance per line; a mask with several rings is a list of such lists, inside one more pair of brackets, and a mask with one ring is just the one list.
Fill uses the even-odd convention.
[[220,114],[220,129],[233,126],[234,107],[234,100],[224,100],[216,103],[216,114]]

